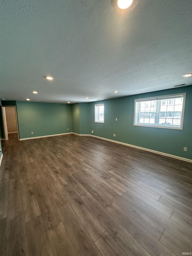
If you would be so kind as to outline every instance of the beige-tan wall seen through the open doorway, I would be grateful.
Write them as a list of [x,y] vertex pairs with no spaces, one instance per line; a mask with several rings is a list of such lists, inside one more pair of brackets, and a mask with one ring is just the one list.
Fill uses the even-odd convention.
[[17,132],[15,107],[5,107],[5,114],[6,114],[8,133]]

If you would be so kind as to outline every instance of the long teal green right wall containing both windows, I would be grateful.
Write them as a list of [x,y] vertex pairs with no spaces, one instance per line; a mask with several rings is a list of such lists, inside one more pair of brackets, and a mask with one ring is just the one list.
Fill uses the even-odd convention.
[[[147,98],[186,92],[183,130],[134,126],[134,99]],[[99,101],[105,104],[105,123],[95,123],[94,106],[90,103],[90,130],[95,136],[104,137],[192,159],[192,86],[132,95],[122,98]],[[117,118],[117,121],[116,121]],[[116,134],[116,137],[113,137]],[[183,148],[187,147],[187,152]]]

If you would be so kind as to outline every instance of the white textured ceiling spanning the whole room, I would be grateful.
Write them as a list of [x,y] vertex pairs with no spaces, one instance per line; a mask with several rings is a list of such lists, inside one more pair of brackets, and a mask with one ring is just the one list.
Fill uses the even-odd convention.
[[139,0],[125,14],[111,0],[1,0],[0,98],[75,103],[191,85],[191,13],[191,0]]

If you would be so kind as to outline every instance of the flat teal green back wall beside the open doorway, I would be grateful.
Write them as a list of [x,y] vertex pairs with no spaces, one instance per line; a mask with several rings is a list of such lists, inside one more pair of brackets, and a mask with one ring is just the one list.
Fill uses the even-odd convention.
[[20,139],[72,132],[69,104],[16,101],[16,110]]

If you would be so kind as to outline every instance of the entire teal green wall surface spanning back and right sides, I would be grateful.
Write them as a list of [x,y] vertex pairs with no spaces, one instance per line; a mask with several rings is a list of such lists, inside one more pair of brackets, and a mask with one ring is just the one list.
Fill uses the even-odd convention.
[[[183,130],[133,125],[134,99],[183,92],[186,92]],[[104,124],[94,122],[94,107],[98,101],[72,105],[2,101],[5,106],[16,105],[20,138],[72,131],[77,134],[91,134],[91,130],[94,130],[95,136],[192,159],[192,86],[109,99],[99,103],[105,104]],[[113,134],[116,134],[116,137],[113,137]],[[187,147],[187,152],[183,151],[184,147]]]

